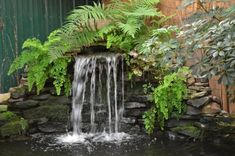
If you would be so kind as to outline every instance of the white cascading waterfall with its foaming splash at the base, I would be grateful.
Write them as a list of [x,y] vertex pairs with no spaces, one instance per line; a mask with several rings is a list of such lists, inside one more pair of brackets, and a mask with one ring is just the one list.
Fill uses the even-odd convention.
[[[119,140],[127,136],[119,133],[124,111],[124,62],[121,55],[100,53],[77,57],[72,90],[73,132],[60,137],[62,142],[84,142],[86,138]],[[89,114],[85,115],[86,121],[83,121],[84,114]],[[89,125],[86,123],[85,126],[83,123],[87,118]],[[89,133],[83,129],[89,129]]]

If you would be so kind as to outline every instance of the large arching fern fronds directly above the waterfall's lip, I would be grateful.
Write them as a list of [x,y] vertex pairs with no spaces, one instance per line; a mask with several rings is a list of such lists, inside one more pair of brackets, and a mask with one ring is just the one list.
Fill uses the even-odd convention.
[[[54,47],[52,56],[61,57],[66,52],[79,51],[82,47],[103,42],[107,48],[130,52],[142,44],[154,24],[149,18],[163,18],[155,5],[159,0],[112,0],[106,6],[94,3],[74,9],[67,24],[57,34],[67,41],[69,50]],[[54,55],[53,53],[56,53]]]

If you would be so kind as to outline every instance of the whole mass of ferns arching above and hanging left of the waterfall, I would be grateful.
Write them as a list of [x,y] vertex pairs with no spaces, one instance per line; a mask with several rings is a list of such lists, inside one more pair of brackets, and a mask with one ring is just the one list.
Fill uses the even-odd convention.
[[53,79],[57,94],[62,87],[68,94],[71,83],[67,66],[73,53],[98,44],[126,53],[139,47],[153,27],[159,25],[147,22],[148,19],[164,18],[155,7],[157,3],[159,0],[111,0],[106,6],[100,3],[80,6],[45,43],[35,38],[26,40],[22,54],[8,74],[27,66],[29,90],[36,85],[39,93],[46,81]]

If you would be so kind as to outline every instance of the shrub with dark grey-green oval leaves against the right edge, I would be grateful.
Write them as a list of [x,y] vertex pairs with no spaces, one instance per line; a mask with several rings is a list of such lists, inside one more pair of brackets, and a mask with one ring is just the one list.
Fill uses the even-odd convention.
[[[233,8],[233,7],[232,7]],[[235,21],[233,9],[229,16],[215,20],[204,18],[183,26],[178,34],[184,51],[191,52],[193,56],[201,51],[202,57],[192,67],[193,72],[199,76],[219,77],[219,83],[233,85],[235,80]],[[228,14],[227,14],[228,15]]]

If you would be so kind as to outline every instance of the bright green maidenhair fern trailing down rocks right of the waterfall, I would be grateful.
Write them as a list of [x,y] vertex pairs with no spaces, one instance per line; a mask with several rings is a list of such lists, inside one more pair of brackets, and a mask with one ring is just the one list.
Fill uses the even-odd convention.
[[165,120],[168,120],[173,112],[181,114],[185,110],[183,99],[187,93],[185,81],[188,72],[188,68],[184,67],[179,69],[178,72],[166,75],[163,82],[154,88],[154,105],[143,116],[148,134],[153,132],[156,120],[163,130]]

